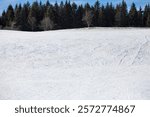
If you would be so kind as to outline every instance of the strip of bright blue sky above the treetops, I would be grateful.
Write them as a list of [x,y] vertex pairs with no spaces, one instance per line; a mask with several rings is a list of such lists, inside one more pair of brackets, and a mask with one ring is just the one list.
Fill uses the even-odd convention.
[[[23,4],[26,3],[27,1],[29,1],[30,3],[34,2],[35,0],[0,0],[0,14],[2,13],[3,10],[7,9],[9,4],[12,4],[13,6],[15,6],[15,4]],[[45,3],[47,0],[37,0],[37,1],[42,1],[42,3]],[[59,3],[62,0],[49,0],[50,3],[55,3],[56,1]],[[66,0],[63,0],[66,1]],[[70,1],[74,1],[77,4],[85,4],[85,3],[90,3],[90,4],[94,4],[96,0],[70,0]],[[112,2],[114,5],[117,3],[120,3],[122,0],[99,0],[101,4],[106,4],[107,2]],[[137,7],[144,7],[145,4],[150,4],[150,0],[125,0],[128,4],[128,6],[131,5],[132,2],[134,2],[136,4]]]

